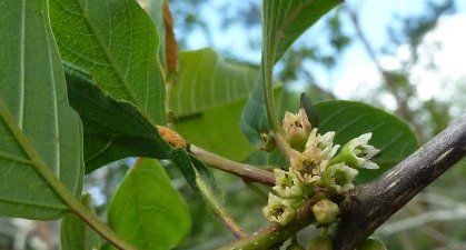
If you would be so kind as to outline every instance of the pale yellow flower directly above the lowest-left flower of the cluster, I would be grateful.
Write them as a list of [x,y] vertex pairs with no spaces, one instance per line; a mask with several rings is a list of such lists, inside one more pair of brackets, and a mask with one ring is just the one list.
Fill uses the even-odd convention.
[[276,186],[272,188],[281,198],[300,198],[304,194],[304,184],[293,172],[274,169]]

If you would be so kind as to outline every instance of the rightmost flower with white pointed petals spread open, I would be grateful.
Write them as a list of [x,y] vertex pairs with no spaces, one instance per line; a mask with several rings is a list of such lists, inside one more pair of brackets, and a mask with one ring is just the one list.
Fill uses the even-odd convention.
[[378,169],[378,164],[370,161],[380,150],[367,144],[373,133],[365,133],[346,143],[340,152],[330,161],[330,164],[345,162],[351,168]]

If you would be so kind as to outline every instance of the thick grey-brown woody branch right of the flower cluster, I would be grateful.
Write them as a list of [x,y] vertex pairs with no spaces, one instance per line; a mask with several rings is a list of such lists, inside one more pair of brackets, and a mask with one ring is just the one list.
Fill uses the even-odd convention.
[[341,221],[334,249],[353,250],[426,186],[466,156],[466,114],[395,166],[358,187],[340,204]]

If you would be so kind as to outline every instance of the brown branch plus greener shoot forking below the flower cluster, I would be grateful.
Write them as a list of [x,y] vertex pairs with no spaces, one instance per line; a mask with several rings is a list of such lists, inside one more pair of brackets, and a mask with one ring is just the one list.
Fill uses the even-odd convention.
[[[343,193],[341,221],[331,234],[334,249],[353,250],[423,188],[466,156],[466,114],[375,182]],[[279,244],[315,222],[314,197],[286,226],[271,223],[218,250],[259,250]]]

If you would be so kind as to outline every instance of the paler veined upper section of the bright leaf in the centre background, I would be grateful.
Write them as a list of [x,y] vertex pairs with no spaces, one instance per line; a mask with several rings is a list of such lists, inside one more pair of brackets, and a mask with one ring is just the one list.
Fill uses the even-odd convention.
[[186,116],[245,99],[258,73],[256,67],[225,61],[211,49],[181,52],[170,109]]

